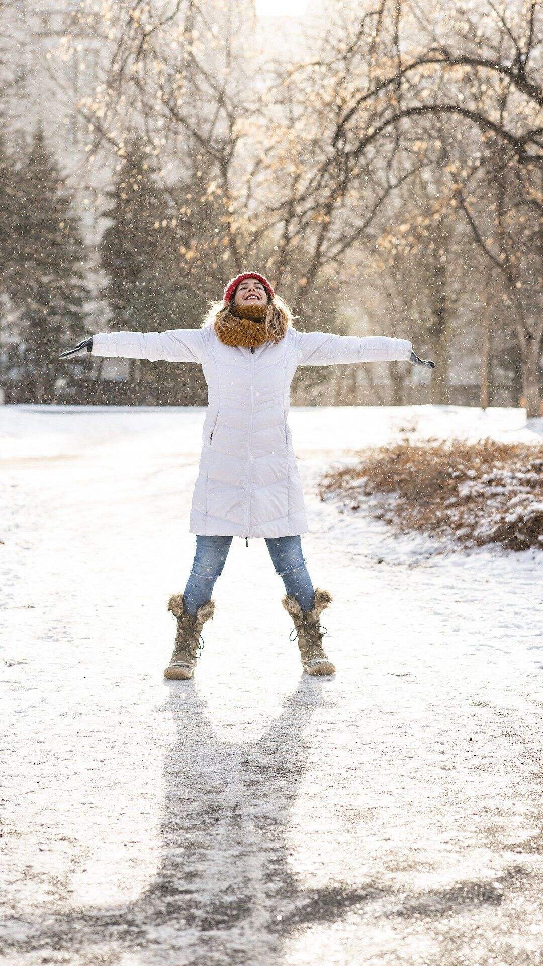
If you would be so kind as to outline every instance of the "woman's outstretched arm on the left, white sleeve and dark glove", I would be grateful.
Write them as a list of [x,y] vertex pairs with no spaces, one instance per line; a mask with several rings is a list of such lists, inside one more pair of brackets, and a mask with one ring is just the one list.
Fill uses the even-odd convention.
[[75,349],[60,358],[73,355],[102,355],[109,358],[149,359],[157,362],[201,362],[208,334],[203,328],[171,328],[165,332],[99,332],[78,342]]

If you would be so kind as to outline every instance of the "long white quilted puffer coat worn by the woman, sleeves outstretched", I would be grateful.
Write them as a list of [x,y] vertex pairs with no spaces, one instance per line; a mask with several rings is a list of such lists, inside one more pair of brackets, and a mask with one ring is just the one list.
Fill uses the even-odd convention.
[[189,532],[283,537],[308,530],[287,415],[299,365],[408,360],[407,339],[299,332],[247,349],[208,323],[165,332],[102,332],[93,355],[199,362],[208,384]]

